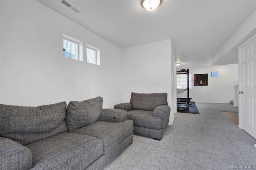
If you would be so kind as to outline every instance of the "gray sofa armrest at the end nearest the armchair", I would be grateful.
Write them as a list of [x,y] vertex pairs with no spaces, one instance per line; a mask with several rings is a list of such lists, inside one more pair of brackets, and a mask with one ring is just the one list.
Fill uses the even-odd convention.
[[98,121],[122,122],[126,120],[127,114],[124,110],[119,109],[102,109]]

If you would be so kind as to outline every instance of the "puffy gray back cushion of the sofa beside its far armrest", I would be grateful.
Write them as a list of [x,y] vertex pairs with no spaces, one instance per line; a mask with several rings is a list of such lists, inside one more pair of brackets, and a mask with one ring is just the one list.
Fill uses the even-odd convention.
[[85,101],[70,101],[67,107],[66,124],[68,132],[96,122],[102,112],[102,97]]

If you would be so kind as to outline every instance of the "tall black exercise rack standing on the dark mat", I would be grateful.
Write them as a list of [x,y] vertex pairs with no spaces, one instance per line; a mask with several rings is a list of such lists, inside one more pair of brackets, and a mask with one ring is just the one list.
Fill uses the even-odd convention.
[[[184,89],[184,91],[187,90],[187,97],[177,97],[177,110],[189,110],[189,106],[191,105],[190,100],[192,98],[189,98],[189,69],[181,69],[180,71],[177,71],[177,74],[187,74],[187,88]],[[180,94],[184,91],[178,92],[177,94]]]

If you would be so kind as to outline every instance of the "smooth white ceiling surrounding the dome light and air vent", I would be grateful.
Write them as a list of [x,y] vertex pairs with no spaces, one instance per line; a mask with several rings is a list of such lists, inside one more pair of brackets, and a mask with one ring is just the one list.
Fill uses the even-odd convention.
[[179,67],[211,65],[211,59],[256,10],[256,0],[163,0],[147,11],[140,0],[38,0],[102,38],[127,48],[172,39]]

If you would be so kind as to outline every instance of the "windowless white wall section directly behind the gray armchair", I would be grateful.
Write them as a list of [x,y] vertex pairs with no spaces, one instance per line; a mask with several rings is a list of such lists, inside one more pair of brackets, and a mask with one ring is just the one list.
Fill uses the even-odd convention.
[[[130,102],[131,93],[167,93],[172,101],[171,40],[123,49],[123,101]],[[169,125],[174,119],[171,108]]]

